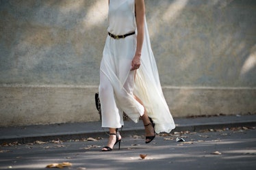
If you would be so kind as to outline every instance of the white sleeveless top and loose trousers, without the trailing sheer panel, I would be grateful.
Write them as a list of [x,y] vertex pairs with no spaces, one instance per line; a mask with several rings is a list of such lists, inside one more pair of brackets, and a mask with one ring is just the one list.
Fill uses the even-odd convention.
[[[136,30],[133,0],[110,0],[107,30],[115,35]],[[144,114],[144,107],[133,97],[134,71],[130,69],[135,51],[136,35],[118,40],[107,36],[99,86],[103,127],[120,128],[124,111],[133,122]]]

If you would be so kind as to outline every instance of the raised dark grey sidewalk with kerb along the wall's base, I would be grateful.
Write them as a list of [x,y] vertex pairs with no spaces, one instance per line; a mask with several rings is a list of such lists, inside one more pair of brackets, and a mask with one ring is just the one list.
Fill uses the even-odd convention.
[[[176,128],[172,132],[256,126],[256,115],[175,118],[175,124]],[[3,127],[0,128],[0,144],[14,141],[29,143],[37,140],[50,141],[54,139],[68,140],[101,137],[105,135],[105,131],[107,131],[107,128],[101,128],[101,122]],[[144,131],[144,126],[141,121],[138,124],[126,121],[122,135],[137,134],[142,131]]]

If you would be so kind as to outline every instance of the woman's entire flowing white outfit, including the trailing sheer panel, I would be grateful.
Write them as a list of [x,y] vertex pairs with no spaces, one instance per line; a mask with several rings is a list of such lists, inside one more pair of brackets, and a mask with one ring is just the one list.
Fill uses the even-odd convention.
[[[108,17],[110,33],[125,35],[136,31],[134,0],[110,0]],[[130,71],[136,52],[136,34],[121,39],[106,38],[99,85],[102,127],[123,126],[123,112],[137,123],[145,109],[155,123],[155,132],[170,132],[175,128],[159,82],[146,18],[144,25],[141,65],[136,71]],[[145,108],[134,96],[142,100]]]

